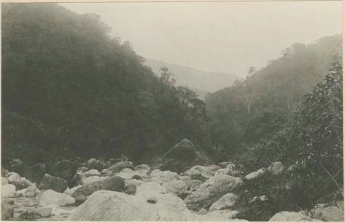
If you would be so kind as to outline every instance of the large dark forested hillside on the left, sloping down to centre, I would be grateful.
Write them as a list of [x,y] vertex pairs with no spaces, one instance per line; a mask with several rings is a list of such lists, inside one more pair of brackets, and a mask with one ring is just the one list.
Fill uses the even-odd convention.
[[202,145],[204,102],[143,65],[95,14],[3,4],[2,159],[160,155]]

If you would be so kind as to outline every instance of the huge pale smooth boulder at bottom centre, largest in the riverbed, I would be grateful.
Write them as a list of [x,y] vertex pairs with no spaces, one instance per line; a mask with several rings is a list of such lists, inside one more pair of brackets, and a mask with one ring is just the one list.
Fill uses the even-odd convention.
[[150,204],[148,197],[113,191],[97,191],[81,204],[68,221],[187,221],[194,215],[175,195],[155,194],[158,202]]

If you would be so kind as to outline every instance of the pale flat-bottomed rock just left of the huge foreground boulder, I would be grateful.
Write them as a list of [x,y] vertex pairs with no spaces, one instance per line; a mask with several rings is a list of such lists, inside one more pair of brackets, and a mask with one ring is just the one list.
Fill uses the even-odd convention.
[[66,206],[70,204],[75,204],[75,198],[66,195],[65,193],[58,193],[53,190],[44,191],[39,195],[39,205],[57,205]]

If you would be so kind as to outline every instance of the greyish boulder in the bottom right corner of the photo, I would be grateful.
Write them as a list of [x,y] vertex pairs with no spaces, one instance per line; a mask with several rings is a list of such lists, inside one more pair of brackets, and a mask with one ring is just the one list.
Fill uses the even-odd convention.
[[324,222],[343,222],[344,221],[344,209],[342,205],[329,206],[328,204],[317,204],[313,209],[313,217]]

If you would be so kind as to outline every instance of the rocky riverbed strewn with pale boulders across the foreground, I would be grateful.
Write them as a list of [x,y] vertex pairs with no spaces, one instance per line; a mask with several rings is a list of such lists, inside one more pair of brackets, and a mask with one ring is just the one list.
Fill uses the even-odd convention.
[[[186,144],[190,145],[183,142]],[[188,148],[193,146],[184,147]],[[169,151],[170,155],[177,152]],[[189,154],[193,157],[195,153]],[[75,173],[74,167],[68,166],[70,161],[61,161],[52,171],[56,175],[44,173],[36,165],[35,177],[30,179],[34,182],[3,169],[1,217],[57,221],[246,221],[253,216],[274,221],[343,220],[343,202],[317,204],[304,211],[275,211],[272,195],[255,188],[263,182],[277,188],[279,177],[290,171],[281,162],[245,173],[232,162],[201,165],[197,156],[193,157],[195,165],[185,163],[179,173],[166,170],[172,165],[171,157],[156,166],[92,158],[86,164],[73,164],[78,166]]]

